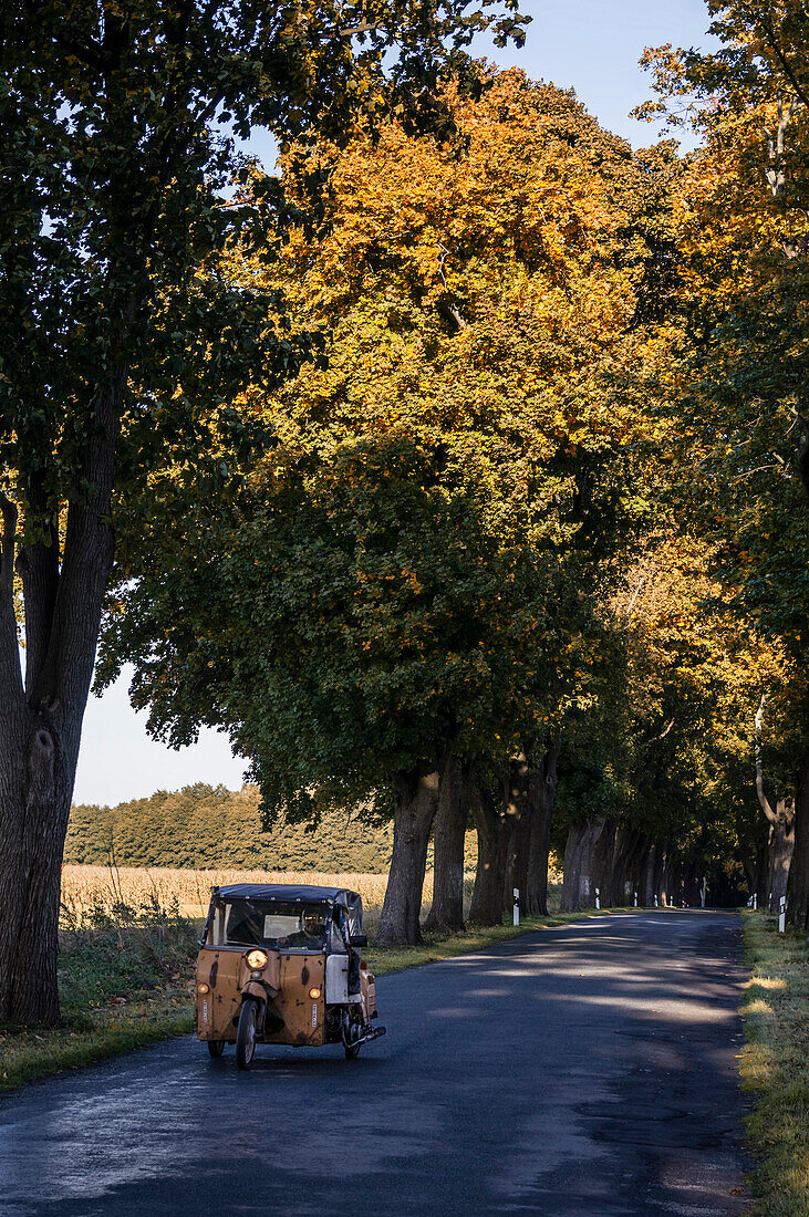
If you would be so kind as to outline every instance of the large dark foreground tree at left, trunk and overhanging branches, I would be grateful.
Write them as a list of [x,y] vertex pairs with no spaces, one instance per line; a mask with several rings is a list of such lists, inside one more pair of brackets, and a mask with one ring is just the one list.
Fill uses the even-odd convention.
[[522,21],[515,0],[4,6],[0,1020],[60,1017],[60,860],[116,532],[152,517],[167,460],[202,498],[232,482],[266,442],[238,391],[311,349],[279,296],[207,273],[229,243],[271,258],[290,220],[273,181],[225,204],[226,133],[341,142],[392,111],[440,128],[439,77]]

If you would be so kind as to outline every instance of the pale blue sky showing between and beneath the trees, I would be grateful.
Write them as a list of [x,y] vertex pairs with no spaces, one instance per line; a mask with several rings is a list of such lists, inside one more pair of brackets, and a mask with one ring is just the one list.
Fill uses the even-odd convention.
[[[651,144],[652,128],[633,122],[629,111],[648,96],[637,67],[645,46],[674,43],[706,46],[704,0],[523,0],[533,16],[522,51],[499,51],[483,40],[476,47],[501,67],[517,65],[534,79],[574,88],[599,120],[635,147]],[[268,139],[253,151],[273,157]],[[84,720],[75,801],[116,803],[192,781],[237,789],[245,762],[231,756],[224,735],[207,730],[195,747],[179,752],[146,735],[145,716],[127,696],[127,675],[101,699],[91,697]]]

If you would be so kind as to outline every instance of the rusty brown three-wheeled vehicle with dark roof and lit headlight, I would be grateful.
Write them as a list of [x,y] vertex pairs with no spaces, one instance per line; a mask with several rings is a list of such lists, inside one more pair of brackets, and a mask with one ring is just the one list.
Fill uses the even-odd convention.
[[384,1034],[371,1021],[376,985],[365,946],[363,901],[344,887],[212,888],[197,959],[197,1037],[212,1056],[236,1044],[240,1069],[249,1069],[255,1044],[342,1043],[358,1056]]

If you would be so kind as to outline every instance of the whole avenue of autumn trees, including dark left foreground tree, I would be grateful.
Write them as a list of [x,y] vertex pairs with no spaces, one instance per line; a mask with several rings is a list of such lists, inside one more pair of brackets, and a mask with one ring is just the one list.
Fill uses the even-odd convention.
[[0,1019],[58,1017],[105,596],[101,682],[227,729],[268,826],[392,817],[383,942],[431,832],[462,925],[470,821],[479,920],[550,845],[571,905],[775,902],[794,846],[807,924],[799,7],[648,52],[685,158],[472,63],[461,0],[2,18]]

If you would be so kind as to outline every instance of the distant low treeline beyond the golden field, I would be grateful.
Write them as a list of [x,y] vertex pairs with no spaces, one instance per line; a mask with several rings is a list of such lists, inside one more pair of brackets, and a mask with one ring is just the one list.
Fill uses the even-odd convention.
[[[105,864],[112,848],[116,862],[127,867],[388,870],[393,824],[372,825],[356,815],[331,813],[314,832],[290,824],[263,832],[258,804],[253,786],[231,791],[197,783],[117,807],[74,807],[64,862]],[[467,865],[473,867],[472,834],[467,854]]]

